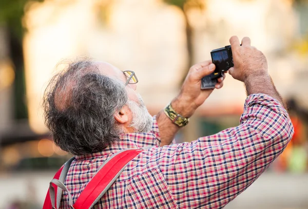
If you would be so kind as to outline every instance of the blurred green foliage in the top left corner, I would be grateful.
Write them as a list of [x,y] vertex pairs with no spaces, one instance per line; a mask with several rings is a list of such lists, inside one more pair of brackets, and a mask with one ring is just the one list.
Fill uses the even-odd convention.
[[[44,0],[35,0],[43,2]],[[0,0],[0,24],[5,24],[10,28],[13,35],[20,40],[23,37],[24,28],[22,26],[22,17],[24,8],[29,0]]]

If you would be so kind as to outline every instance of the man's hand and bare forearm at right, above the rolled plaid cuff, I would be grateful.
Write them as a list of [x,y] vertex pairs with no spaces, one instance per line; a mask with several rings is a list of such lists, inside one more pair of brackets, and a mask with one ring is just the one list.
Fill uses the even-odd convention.
[[244,37],[242,46],[237,36],[230,38],[234,67],[229,74],[234,79],[244,82],[247,96],[254,93],[264,93],[282,105],[283,101],[267,71],[267,61],[264,54],[251,46],[249,37]]

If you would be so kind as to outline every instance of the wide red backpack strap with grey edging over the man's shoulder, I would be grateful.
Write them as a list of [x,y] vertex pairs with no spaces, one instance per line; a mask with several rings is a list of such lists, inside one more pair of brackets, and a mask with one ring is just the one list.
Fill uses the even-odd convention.
[[73,208],[92,208],[120,176],[127,164],[143,150],[122,150],[108,158],[84,188]]

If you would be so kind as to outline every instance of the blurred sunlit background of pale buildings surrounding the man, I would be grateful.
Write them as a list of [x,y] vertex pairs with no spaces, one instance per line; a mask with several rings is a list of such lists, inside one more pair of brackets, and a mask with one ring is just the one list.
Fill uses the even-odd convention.
[[[65,59],[88,56],[134,70],[155,115],[179,92],[189,66],[232,35],[249,36],[290,106],[295,135],[283,154],[225,208],[308,208],[308,1],[1,0],[0,208],[42,208],[70,156],[44,125],[42,94]],[[239,124],[245,89],[229,75],[177,142]]]

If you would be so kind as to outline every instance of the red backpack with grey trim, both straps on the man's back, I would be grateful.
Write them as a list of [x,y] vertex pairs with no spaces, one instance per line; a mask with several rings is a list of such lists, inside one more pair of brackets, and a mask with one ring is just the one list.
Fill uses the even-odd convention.
[[43,209],[59,209],[63,190],[67,192],[70,209],[92,208],[120,176],[127,164],[144,149],[125,149],[113,154],[99,168],[73,204],[72,196],[64,181],[74,157],[69,159],[54,175],[49,183]]

